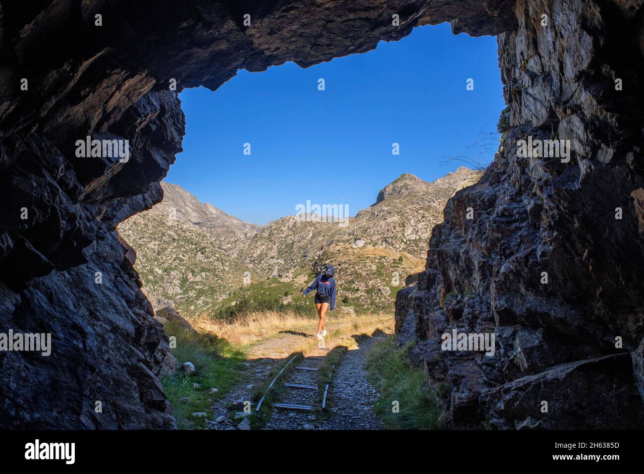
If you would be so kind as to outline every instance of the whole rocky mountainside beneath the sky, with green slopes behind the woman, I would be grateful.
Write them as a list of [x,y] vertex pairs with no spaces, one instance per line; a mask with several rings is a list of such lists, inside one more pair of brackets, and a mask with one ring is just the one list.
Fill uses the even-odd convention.
[[343,294],[339,307],[393,310],[392,295],[405,277],[424,268],[445,202],[475,179],[468,168],[431,183],[405,173],[348,221],[290,215],[263,227],[162,182],[162,202],[119,224],[118,232],[137,252],[135,267],[155,308],[171,304],[188,316],[231,314],[242,303],[304,310],[309,302],[289,295],[332,263]]

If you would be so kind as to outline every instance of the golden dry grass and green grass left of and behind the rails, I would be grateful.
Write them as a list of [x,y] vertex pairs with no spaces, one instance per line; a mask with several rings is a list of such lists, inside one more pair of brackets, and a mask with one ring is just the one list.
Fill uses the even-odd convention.
[[[173,406],[173,416],[180,429],[207,428],[205,420],[213,419],[213,402],[222,399],[234,386],[242,382],[247,383],[251,378],[247,375],[247,367],[243,362],[263,357],[281,359],[279,364],[272,368],[269,377],[254,391],[254,410],[270,381],[294,355],[301,359],[304,355],[319,353],[318,341],[312,337],[317,330],[317,318],[313,316],[304,316],[292,311],[261,311],[226,321],[200,317],[190,322],[196,331],[185,330],[171,321],[164,325],[164,332],[168,336],[176,337],[176,348],[172,351],[178,359],[178,364],[193,362],[195,368],[192,374],[177,370],[162,380],[169,402]],[[392,316],[386,313],[327,313],[328,334],[325,343],[329,351],[323,361],[322,370],[319,371],[319,384],[326,385],[326,380],[331,379],[330,367],[336,364],[337,368],[342,351],[357,348],[357,341],[361,336],[356,335],[371,334],[375,330],[392,333]],[[286,337],[289,339],[281,342],[281,339]],[[262,346],[263,342],[277,342],[274,350],[282,352],[267,354],[266,346]],[[262,403],[259,416],[251,415],[251,428],[258,428],[269,419],[272,402],[280,399],[283,383],[289,380],[290,371],[294,370],[298,362],[299,360],[294,360],[270,389]],[[200,384],[199,388],[195,389],[194,383]],[[210,393],[213,387],[217,388],[218,392]],[[327,404],[330,405],[332,395],[327,397]],[[207,415],[193,417],[192,414],[196,412],[204,412]]]

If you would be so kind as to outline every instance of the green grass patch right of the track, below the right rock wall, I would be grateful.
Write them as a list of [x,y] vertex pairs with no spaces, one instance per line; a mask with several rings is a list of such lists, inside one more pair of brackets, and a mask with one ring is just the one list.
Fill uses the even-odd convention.
[[[368,379],[380,392],[375,413],[388,430],[437,430],[444,426],[444,406],[437,391],[428,388],[422,370],[409,360],[411,344],[396,345],[395,336],[376,342],[366,359]],[[394,403],[399,411],[396,413]]]

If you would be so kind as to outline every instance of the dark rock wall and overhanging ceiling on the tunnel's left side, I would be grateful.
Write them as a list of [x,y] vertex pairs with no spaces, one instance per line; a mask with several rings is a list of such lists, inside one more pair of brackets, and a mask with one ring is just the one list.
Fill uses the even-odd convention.
[[[0,428],[174,426],[158,381],[167,341],[115,226],[162,198],[180,90],[442,21],[516,25],[500,0],[0,2],[0,333],[52,335],[50,356],[0,351]],[[128,160],[78,157],[88,136],[128,140]]]

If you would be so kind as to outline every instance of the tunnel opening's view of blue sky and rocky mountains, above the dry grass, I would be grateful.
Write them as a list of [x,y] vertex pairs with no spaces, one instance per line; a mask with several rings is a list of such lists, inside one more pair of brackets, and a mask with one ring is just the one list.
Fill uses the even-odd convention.
[[447,199],[497,152],[496,45],[422,26],[365,54],[184,90],[166,197],[118,226],[153,307],[312,314],[295,295],[334,264],[339,312],[393,312]]

